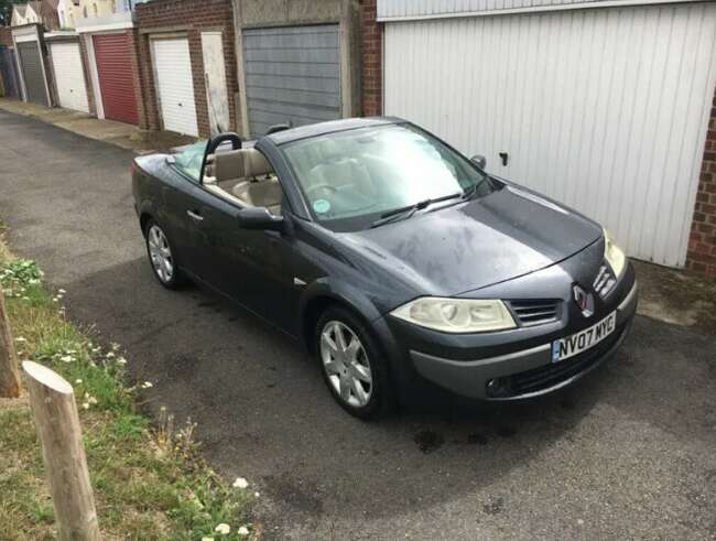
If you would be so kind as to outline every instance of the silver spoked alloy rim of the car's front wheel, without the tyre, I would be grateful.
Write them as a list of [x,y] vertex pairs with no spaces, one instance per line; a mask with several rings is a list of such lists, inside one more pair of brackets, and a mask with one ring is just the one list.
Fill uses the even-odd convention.
[[364,345],[350,327],[329,321],[321,332],[321,359],[330,385],[340,399],[364,408],[372,394],[372,371]]

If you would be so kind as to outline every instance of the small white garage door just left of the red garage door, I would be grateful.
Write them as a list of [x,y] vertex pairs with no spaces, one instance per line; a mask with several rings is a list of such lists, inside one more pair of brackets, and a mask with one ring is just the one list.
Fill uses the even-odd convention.
[[59,107],[89,112],[85,74],[77,43],[50,45]]

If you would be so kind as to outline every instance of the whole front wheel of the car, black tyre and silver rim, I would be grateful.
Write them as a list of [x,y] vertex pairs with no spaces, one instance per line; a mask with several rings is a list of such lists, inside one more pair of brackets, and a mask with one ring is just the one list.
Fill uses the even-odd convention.
[[387,367],[358,317],[338,306],[326,310],[316,325],[315,351],[330,393],[348,413],[373,419],[388,410]]

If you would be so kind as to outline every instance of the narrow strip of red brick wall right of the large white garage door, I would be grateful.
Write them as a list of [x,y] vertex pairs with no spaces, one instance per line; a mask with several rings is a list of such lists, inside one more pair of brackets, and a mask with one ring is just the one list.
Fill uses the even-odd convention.
[[716,278],[716,95],[704,145],[686,268]]

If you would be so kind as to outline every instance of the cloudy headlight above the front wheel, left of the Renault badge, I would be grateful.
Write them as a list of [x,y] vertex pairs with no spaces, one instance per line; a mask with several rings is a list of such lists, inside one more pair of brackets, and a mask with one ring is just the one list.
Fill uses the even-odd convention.
[[425,296],[391,312],[395,317],[443,333],[481,333],[514,328],[502,301]]

